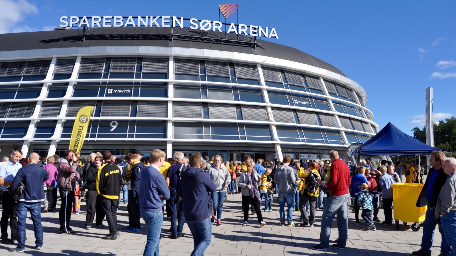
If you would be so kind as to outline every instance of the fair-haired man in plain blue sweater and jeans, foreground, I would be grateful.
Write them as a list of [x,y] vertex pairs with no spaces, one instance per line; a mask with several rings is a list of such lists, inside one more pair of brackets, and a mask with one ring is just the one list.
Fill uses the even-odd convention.
[[163,200],[170,198],[170,190],[159,169],[165,161],[165,156],[165,152],[154,149],[150,152],[150,166],[144,168],[140,174],[140,213],[147,226],[147,242],[143,256],[159,255]]

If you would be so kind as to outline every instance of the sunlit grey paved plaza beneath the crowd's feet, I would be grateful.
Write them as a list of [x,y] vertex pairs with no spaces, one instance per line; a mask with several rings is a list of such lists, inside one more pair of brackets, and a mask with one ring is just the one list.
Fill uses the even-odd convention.
[[[223,226],[212,226],[212,243],[207,248],[205,256],[224,255],[245,255],[245,256],[299,256],[299,255],[408,255],[412,251],[420,249],[422,229],[417,232],[411,230],[410,225],[400,225],[396,230],[394,225],[383,226],[379,223],[377,231],[367,231],[362,225],[354,225],[354,213],[350,212],[348,237],[350,242],[345,251],[330,249],[328,251],[314,251],[311,246],[319,242],[321,228],[322,210],[316,211],[316,225],[314,228],[303,228],[301,226],[288,227],[277,225],[279,222],[279,205],[274,200],[272,212],[263,212],[264,221],[268,225],[260,228],[256,215],[250,215],[249,225],[243,226],[243,214],[241,212],[241,195],[227,195],[228,200],[224,203]],[[276,196],[276,195],[275,195]],[[276,197],[275,197],[276,198]],[[27,219],[27,241],[24,253],[9,252],[10,245],[0,244],[0,255],[82,255],[82,256],[127,256],[142,255],[147,230],[144,226],[140,233],[128,233],[121,229],[128,225],[126,204],[120,204],[118,212],[118,226],[120,235],[115,241],[102,240],[108,235],[106,226],[103,229],[92,228],[84,230],[85,203],[81,205],[79,215],[72,215],[71,226],[77,233],[75,235],[61,235],[58,224],[58,208],[52,213],[42,213],[42,224],[44,229],[44,244],[40,251],[33,249],[35,239],[33,225],[31,225],[30,214]],[[361,215],[361,213],[360,213]],[[378,214],[383,220],[383,210]],[[294,220],[299,220],[298,212],[294,212]],[[107,225],[106,221],[104,224]],[[93,226],[95,226],[93,224]],[[187,225],[184,225],[184,237],[177,240],[169,239],[167,230],[170,227],[169,219],[164,220],[162,228],[162,239],[160,241],[160,255],[162,256],[185,256],[190,255],[193,250],[193,240]],[[337,225],[333,222],[331,231],[331,243],[337,238]],[[435,232],[433,246],[440,246],[440,233]],[[440,253],[438,247],[432,248],[432,254]]]

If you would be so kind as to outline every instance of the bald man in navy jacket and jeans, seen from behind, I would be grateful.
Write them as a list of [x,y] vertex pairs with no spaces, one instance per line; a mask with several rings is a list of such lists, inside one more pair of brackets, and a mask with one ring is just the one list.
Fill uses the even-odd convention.
[[26,219],[27,211],[30,211],[35,230],[35,249],[40,250],[43,246],[43,227],[41,226],[41,202],[44,200],[43,182],[49,177],[47,171],[38,165],[40,156],[31,153],[28,158],[28,165],[17,171],[16,177],[11,183],[11,191],[16,191],[22,183],[25,192],[20,195],[17,203],[17,247],[11,248],[12,252],[25,251],[26,242]]

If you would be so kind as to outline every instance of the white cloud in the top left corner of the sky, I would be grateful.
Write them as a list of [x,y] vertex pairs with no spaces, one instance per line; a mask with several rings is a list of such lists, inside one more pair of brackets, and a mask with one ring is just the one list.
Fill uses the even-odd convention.
[[34,30],[29,26],[21,25],[21,22],[26,15],[38,14],[36,5],[26,0],[0,0],[0,6],[0,34]]

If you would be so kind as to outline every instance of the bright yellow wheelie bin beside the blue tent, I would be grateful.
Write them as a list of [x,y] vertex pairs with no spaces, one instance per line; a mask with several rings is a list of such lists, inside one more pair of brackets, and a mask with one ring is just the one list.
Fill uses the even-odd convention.
[[394,221],[399,230],[399,220],[406,224],[411,222],[412,230],[420,230],[420,224],[425,221],[427,206],[416,207],[416,200],[420,196],[423,184],[419,183],[396,183],[393,188]]

